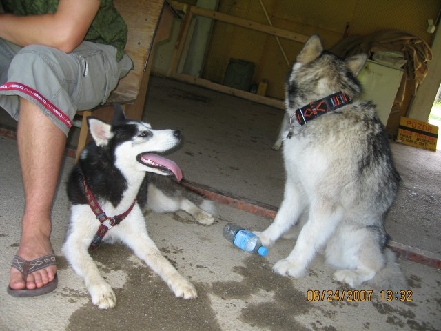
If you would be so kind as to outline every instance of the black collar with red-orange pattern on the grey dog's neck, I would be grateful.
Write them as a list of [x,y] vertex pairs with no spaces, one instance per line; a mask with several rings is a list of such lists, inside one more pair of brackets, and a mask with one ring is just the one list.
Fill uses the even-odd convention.
[[331,110],[336,110],[349,103],[352,103],[351,97],[349,97],[347,94],[343,92],[337,92],[328,95],[323,99],[311,101],[306,106],[303,106],[302,108],[298,108],[298,110],[296,110],[296,112],[294,112],[294,114],[289,119],[289,124],[291,124],[291,129],[289,130],[287,138],[292,137],[292,131],[293,131],[292,118],[294,116],[296,117],[300,126],[303,126],[307,123],[307,121],[311,121],[312,119],[315,119],[319,115],[326,114]]

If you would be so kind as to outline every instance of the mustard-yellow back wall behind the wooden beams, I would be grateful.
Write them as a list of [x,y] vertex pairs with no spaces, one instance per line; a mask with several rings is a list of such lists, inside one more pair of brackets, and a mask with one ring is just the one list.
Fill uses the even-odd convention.
[[[263,0],[271,23],[299,34],[320,34],[325,48],[342,39],[349,22],[349,35],[364,35],[393,28],[415,34],[431,43],[426,32],[427,19],[435,21],[441,8],[439,0]],[[219,12],[267,24],[259,0],[221,0]],[[280,39],[290,62],[302,43]],[[254,81],[269,81],[268,95],[283,98],[287,63],[276,39],[231,24],[216,22],[203,71],[203,78],[223,81],[229,58],[256,64]]]

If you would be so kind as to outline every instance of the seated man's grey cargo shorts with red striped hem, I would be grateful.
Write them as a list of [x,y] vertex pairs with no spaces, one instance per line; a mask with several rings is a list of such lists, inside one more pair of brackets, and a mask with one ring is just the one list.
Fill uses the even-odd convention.
[[75,113],[104,104],[131,69],[130,57],[116,61],[109,45],[83,41],[66,54],[0,39],[0,107],[19,121],[19,97],[28,99],[67,135]]

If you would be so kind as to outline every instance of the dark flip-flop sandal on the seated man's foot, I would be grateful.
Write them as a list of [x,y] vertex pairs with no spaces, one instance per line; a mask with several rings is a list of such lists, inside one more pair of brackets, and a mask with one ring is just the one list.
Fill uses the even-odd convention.
[[[16,268],[23,274],[23,281],[26,282],[28,278],[28,274],[32,274],[32,272],[36,272],[37,270],[48,267],[49,265],[57,264],[55,261],[55,255],[49,254],[44,257],[39,257],[38,259],[34,259],[32,261],[27,261],[19,257],[18,255],[14,256],[12,260],[12,267]],[[37,295],[47,294],[52,292],[57,288],[58,285],[58,277],[55,274],[55,278],[50,283],[47,283],[42,288],[34,288],[30,290],[25,288],[23,290],[13,290],[10,286],[8,286],[8,294],[12,295],[12,297],[35,297]]]

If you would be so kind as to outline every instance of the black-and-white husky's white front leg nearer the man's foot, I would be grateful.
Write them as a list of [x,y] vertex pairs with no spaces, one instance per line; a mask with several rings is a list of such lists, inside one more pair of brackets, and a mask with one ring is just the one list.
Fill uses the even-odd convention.
[[110,284],[101,276],[88,252],[92,237],[93,233],[85,236],[85,233],[81,232],[78,227],[72,228],[63,245],[63,254],[76,274],[83,279],[92,303],[101,309],[113,308],[116,304],[115,293]]

